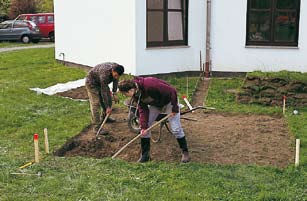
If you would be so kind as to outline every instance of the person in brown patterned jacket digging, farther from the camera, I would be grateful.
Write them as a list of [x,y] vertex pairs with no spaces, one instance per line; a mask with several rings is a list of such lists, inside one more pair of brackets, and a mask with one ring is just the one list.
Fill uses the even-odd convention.
[[[98,132],[105,116],[112,112],[112,95],[114,102],[118,102],[116,95],[118,79],[123,73],[122,65],[107,62],[96,65],[86,76],[85,87],[90,101],[94,132]],[[112,92],[108,86],[111,82],[113,82]],[[100,112],[101,109],[102,112]],[[114,121],[111,117],[107,120],[109,123]],[[106,135],[108,131],[101,129],[99,134]]]

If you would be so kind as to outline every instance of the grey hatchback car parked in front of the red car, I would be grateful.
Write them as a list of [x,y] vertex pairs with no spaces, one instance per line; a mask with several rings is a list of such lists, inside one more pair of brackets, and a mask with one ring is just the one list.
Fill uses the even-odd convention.
[[0,41],[38,43],[42,35],[38,26],[29,20],[7,20],[0,23]]

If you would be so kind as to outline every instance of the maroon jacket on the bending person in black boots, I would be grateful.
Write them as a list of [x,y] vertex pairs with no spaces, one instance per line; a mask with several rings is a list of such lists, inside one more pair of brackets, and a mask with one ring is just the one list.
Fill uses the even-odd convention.
[[148,105],[162,108],[171,102],[172,112],[179,112],[177,91],[170,84],[154,77],[136,77],[134,81],[139,87],[139,92],[134,95],[134,99],[138,101],[141,95],[139,112],[142,129],[148,128]]

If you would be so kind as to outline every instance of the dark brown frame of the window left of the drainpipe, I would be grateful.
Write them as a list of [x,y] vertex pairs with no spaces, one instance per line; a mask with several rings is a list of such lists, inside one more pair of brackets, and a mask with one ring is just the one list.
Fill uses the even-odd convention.
[[[169,46],[181,46],[188,45],[188,9],[189,9],[189,0],[180,0],[182,8],[181,9],[169,9],[168,1],[163,0],[163,8],[162,9],[149,9],[148,8],[148,0],[146,0],[146,47],[169,47]],[[148,23],[148,13],[150,11],[160,11],[163,12],[163,41],[148,41],[148,31],[149,31],[149,23]],[[182,40],[169,40],[168,39],[168,13],[169,12],[181,12],[182,13],[182,31],[183,31],[183,39]]]

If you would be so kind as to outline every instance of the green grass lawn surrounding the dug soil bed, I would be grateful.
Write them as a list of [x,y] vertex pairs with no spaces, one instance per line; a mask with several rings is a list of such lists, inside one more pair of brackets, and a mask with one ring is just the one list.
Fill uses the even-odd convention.
[[[45,88],[80,79],[85,72],[57,64],[54,49],[0,53],[0,200],[306,200],[307,108],[286,118],[301,139],[301,166],[286,169],[255,165],[127,163],[116,159],[47,156],[27,168],[42,177],[11,175],[33,159],[33,133],[48,128],[50,149],[89,124],[88,102],[38,95]],[[186,93],[186,78],[168,80]],[[191,83],[196,83],[192,78]],[[207,105],[221,112],[281,114],[280,108],[237,105],[225,89],[242,80],[211,80]],[[192,93],[193,89],[189,89]],[[40,144],[43,153],[43,144]]]

